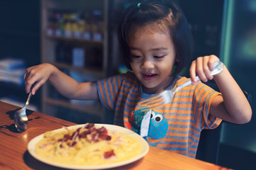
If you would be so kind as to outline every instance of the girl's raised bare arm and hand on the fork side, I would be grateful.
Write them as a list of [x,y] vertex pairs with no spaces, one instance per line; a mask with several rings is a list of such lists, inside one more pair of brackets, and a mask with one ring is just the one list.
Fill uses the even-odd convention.
[[243,94],[240,86],[231,76],[228,69],[224,66],[223,72],[215,76],[210,75],[213,64],[218,61],[218,57],[210,55],[198,57],[191,64],[191,79],[195,83],[196,72],[201,81],[214,79],[222,96],[216,96],[210,106],[210,115],[214,115],[230,123],[248,123],[252,117],[252,109]]

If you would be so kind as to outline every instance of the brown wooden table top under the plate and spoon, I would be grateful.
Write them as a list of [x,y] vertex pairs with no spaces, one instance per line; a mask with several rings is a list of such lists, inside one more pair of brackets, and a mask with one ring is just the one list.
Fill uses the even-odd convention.
[[[33,137],[48,130],[76,125],[43,113],[27,110],[28,129],[18,132],[14,126],[14,112],[18,106],[0,101],[0,169],[60,169],[39,162],[28,153],[27,145]],[[175,154],[164,149],[150,147],[149,153],[132,164],[114,169],[226,169],[215,164]]]

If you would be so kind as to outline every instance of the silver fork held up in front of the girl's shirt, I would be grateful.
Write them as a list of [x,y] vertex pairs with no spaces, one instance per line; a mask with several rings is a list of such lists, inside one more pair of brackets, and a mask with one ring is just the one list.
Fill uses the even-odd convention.
[[[214,63],[214,69],[213,71],[210,72],[211,75],[216,75],[219,74],[220,72],[223,71],[223,62],[215,62]],[[199,77],[196,77],[196,80],[200,80]],[[172,98],[174,97],[174,94],[179,91],[180,89],[182,89],[185,86],[188,86],[189,84],[191,84],[192,81],[189,80],[187,81],[185,84],[182,84],[181,86],[176,87],[173,90],[165,90],[162,91],[160,94],[151,97],[151,98],[147,98],[144,101],[139,102],[139,106],[141,108],[156,108],[159,107],[161,105],[164,105],[166,103],[170,103]]]

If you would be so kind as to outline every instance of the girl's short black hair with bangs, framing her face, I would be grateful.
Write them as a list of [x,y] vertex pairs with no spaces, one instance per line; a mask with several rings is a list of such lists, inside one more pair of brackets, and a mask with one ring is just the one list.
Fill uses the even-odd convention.
[[168,1],[144,1],[141,4],[133,4],[127,8],[117,27],[117,37],[124,64],[132,69],[129,50],[129,38],[137,29],[144,26],[159,28],[168,31],[174,42],[176,69],[173,74],[179,74],[189,62],[193,53],[193,37],[188,27],[188,21],[174,2]]

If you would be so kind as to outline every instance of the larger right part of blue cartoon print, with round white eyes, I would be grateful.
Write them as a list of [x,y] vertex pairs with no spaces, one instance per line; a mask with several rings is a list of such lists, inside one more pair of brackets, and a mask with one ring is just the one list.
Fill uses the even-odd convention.
[[150,118],[148,137],[155,140],[162,139],[168,131],[167,119],[164,118],[164,115],[154,111],[151,112]]

